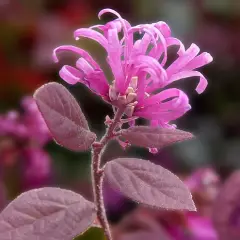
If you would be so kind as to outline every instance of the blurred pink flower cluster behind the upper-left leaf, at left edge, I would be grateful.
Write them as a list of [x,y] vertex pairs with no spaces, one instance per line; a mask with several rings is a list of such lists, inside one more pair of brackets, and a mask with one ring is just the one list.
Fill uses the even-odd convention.
[[10,111],[0,116],[0,165],[4,169],[21,161],[21,184],[26,189],[49,177],[50,157],[43,147],[50,134],[33,98],[25,97],[21,107],[23,113]]

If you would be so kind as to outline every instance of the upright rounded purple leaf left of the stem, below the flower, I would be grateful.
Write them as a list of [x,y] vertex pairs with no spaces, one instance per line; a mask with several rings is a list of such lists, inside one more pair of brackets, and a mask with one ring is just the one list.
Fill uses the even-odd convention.
[[71,93],[58,83],[48,83],[34,94],[38,108],[57,143],[73,151],[90,148],[96,135]]

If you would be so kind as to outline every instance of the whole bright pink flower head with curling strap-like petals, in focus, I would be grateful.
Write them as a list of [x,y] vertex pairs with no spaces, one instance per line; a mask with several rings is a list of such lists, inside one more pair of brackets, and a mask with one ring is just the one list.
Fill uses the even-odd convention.
[[[182,42],[171,35],[165,22],[131,26],[112,9],[100,11],[99,17],[105,13],[112,13],[117,18],[105,25],[77,29],[74,37],[95,40],[106,50],[112,83],[108,83],[100,65],[87,51],[70,45],[57,47],[53,53],[56,62],[60,51],[79,55],[75,67],[62,67],[61,78],[69,84],[85,84],[116,107],[124,105],[128,117],[143,117],[152,125],[169,127],[170,121],[181,117],[191,107],[183,91],[163,88],[180,79],[196,76],[200,79],[196,91],[202,93],[207,80],[196,69],[210,63],[211,55],[199,54],[200,49],[195,44],[185,49]],[[138,40],[134,40],[136,33],[142,34]],[[168,49],[173,45],[179,47],[178,56],[167,66]]]

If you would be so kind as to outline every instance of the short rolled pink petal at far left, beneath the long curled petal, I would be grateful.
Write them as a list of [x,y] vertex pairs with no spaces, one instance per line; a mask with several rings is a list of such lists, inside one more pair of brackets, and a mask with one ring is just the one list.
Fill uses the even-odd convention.
[[74,67],[64,65],[59,71],[60,77],[69,84],[76,84],[81,82],[82,74]]

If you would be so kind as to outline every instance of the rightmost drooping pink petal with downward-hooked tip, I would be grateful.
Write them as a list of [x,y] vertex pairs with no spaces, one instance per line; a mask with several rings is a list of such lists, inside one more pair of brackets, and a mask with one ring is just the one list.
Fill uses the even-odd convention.
[[201,94],[206,89],[208,82],[207,79],[198,71],[183,71],[177,74],[174,74],[169,80],[167,84],[170,84],[171,82],[188,78],[188,77],[200,77],[200,81],[196,87],[197,93]]

